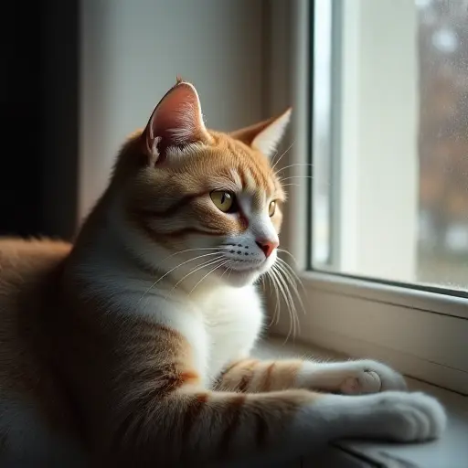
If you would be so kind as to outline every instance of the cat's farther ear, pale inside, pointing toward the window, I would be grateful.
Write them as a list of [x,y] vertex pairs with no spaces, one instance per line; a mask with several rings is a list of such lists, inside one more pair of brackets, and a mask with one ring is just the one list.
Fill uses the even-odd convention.
[[230,133],[233,138],[242,143],[261,151],[261,153],[271,156],[276,151],[286,127],[291,119],[292,109],[289,108],[281,115],[277,115],[263,122],[255,123]]

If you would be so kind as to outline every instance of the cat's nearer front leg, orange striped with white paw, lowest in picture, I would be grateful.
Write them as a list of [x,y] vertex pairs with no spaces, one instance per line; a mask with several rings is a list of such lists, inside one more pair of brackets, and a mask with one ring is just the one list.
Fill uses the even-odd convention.
[[445,415],[435,399],[405,392],[351,397],[180,388],[133,408],[123,425],[109,453],[118,466],[268,466],[338,437],[432,439]]

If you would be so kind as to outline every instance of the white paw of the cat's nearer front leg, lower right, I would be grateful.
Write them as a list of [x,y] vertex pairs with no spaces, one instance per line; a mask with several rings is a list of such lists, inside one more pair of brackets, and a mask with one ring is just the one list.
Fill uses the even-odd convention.
[[[375,433],[386,439],[402,442],[431,441],[441,437],[447,416],[437,399],[424,393],[386,392],[368,397],[373,399]],[[369,434],[371,435],[371,434]]]

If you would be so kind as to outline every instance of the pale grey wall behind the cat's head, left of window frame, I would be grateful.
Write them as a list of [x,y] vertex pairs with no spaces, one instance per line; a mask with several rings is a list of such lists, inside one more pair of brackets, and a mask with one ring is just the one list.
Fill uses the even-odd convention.
[[197,86],[208,127],[264,117],[263,13],[262,0],[82,0],[80,218],[177,74]]

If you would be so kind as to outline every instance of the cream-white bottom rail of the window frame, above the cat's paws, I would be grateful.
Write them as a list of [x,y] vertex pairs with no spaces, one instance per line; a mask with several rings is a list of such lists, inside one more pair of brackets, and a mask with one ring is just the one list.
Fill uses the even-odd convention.
[[[306,310],[299,314],[302,341],[373,356],[407,376],[468,395],[467,299],[317,271],[299,274]],[[288,314],[271,327],[281,335],[290,328]]]

